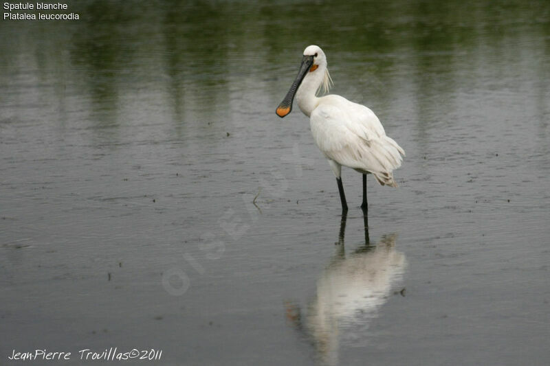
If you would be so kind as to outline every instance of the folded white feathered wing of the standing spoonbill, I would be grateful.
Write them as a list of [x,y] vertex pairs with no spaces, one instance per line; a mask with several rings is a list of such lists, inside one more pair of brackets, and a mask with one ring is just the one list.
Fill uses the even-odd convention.
[[371,172],[380,183],[394,185],[391,172],[401,165],[403,150],[386,136],[369,108],[355,106],[319,104],[310,116],[315,142],[327,158],[349,168]]

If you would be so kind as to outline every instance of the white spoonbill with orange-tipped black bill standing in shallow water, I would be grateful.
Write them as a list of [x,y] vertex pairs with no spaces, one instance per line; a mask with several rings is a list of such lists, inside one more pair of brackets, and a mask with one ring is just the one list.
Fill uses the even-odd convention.
[[366,210],[366,174],[373,174],[381,185],[397,187],[393,170],[401,166],[401,155],[404,157],[405,152],[386,136],[371,109],[340,95],[318,98],[317,92],[323,89],[327,93],[331,83],[325,52],[316,45],[306,47],[298,76],[276,113],[281,118],[289,114],[296,95],[300,110],[309,117],[315,143],[336,175],[342,211],[348,209],[342,186],[342,165],[363,174],[361,207]]

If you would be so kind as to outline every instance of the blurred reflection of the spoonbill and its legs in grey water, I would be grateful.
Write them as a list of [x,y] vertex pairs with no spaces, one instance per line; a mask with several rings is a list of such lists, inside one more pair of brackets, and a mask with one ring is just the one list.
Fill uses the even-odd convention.
[[[388,301],[403,277],[405,255],[395,251],[395,234],[371,244],[364,211],[365,244],[351,253],[344,249],[347,214],[342,213],[336,253],[317,281],[316,297],[306,313],[287,302],[289,323],[305,336],[321,363],[336,365],[340,344],[364,345],[371,319]],[[399,294],[399,292],[397,292]],[[401,290],[404,295],[404,290]]]

